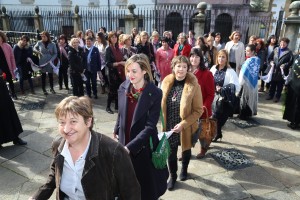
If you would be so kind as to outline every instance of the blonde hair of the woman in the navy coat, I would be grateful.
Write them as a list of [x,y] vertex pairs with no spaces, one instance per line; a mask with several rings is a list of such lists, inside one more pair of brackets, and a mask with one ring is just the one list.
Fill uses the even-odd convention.
[[149,58],[145,54],[141,53],[141,54],[135,54],[135,55],[131,56],[125,63],[125,74],[128,69],[128,66],[131,65],[132,63],[139,64],[141,69],[146,71],[146,74],[144,75],[145,80],[147,80],[149,82],[153,81]]

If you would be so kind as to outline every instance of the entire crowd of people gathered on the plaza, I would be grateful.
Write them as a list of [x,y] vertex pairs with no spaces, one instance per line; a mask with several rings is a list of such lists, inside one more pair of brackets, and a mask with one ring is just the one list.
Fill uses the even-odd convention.
[[[185,181],[188,178],[191,138],[198,130],[199,119],[217,120],[217,133],[212,142],[218,142],[223,138],[222,127],[229,117],[237,114],[241,120],[247,120],[257,115],[259,92],[266,92],[266,99],[277,103],[286,88],[283,118],[290,122],[288,127],[299,128],[299,52],[296,57],[293,55],[288,48],[290,41],[285,37],[277,42],[271,35],[265,43],[262,38],[252,35],[248,44],[244,44],[241,37],[239,31],[234,31],[225,44],[220,33],[195,38],[191,30],[188,34],[180,33],[174,41],[172,31],[165,31],[161,37],[157,31],[139,33],[133,28],[126,34],[106,32],[106,28],[101,27],[96,34],[91,29],[85,33],[79,31],[69,42],[65,35],[60,35],[57,43],[43,31],[41,40],[33,48],[26,36],[11,48],[6,44],[5,34],[0,32],[0,66],[6,74],[13,99],[17,98],[12,82],[15,69],[18,70],[22,95],[25,94],[24,80],[29,81],[31,93],[35,93],[31,80],[33,68],[41,71],[44,95],[48,95],[48,91],[56,93],[53,73],[58,67],[59,89],[63,89],[63,84],[66,90],[72,87],[73,96],[64,99],[55,111],[62,138],[53,143],[54,155],[64,160],[53,160],[48,182],[32,199],[48,198],[55,188],[59,188],[57,195],[62,199],[93,198],[99,192],[95,188],[97,180],[113,186],[102,187],[110,199],[117,196],[121,199],[158,199],[166,189],[175,188],[178,160],[182,163],[179,179]],[[33,53],[38,55],[39,62],[33,62]],[[46,89],[47,74],[50,90]],[[91,99],[98,99],[97,80],[101,94],[107,93],[106,112],[118,113],[113,138],[119,143],[92,130]],[[168,138],[171,147],[168,171],[157,170],[149,156],[149,139],[155,147],[159,143],[157,123],[160,117],[162,131],[173,132]],[[26,144],[18,138],[20,131],[14,131],[11,141]],[[8,140],[0,140],[0,144],[4,142]],[[99,147],[100,144],[103,147]],[[179,145],[181,158],[177,158]],[[201,141],[200,145],[198,159],[205,157],[209,147]],[[95,160],[97,167],[109,162],[110,168],[104,172],[98,168],[90,171],[87,163],[80,161],[98,154],[101,158]],[[122,157],[124,154],[129,156]],[[114,156],[116,159],[122,157],[124,166],[114,163]],[[102,163],[102,157],[110,158]],[[111,168],[116,171],[109,171]],[[82,170],[86,171],[84,176],[78,176],[78,170],[81,174]],[[128,173],[124,175],[119,170]],[[76,176],[76,180],[69,175]],[[108,180],[106,176],[114,179]],[[55,183],[60,179],[61,183]],[[123,189],[131,187],[137,190],[126,189],[130,192],[125,194]]]

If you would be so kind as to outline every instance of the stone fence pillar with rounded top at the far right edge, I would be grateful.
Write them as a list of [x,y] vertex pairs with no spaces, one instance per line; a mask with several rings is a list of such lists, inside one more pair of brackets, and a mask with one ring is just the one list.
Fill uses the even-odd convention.
[[283,36],[290,39],[289,49],[292,51],[297,50],[296,45],[297,45],[297,39],[299,36],[299,29],[300,29],[299,10],[300,10],[300,1],[294,1],[293,3],[291,3],[289,7],[289,11],[291,12],[291,15],[288,16],[284,21],[285,30]]

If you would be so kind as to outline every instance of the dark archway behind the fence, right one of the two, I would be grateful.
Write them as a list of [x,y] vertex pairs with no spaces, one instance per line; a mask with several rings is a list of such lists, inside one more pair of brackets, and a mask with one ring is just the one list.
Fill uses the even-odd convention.
[[223,13],[218,15],[215,20],[215,33],[221,33],[222,42],[228,42],[229,36],[232,32],[232,17],[227,14]]

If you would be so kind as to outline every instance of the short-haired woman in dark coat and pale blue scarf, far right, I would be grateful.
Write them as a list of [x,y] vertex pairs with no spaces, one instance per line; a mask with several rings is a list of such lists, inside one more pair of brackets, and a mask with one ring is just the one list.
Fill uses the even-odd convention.
[[288,75],[290,67],[293,64],[293,53],[288,48],[289,42],[290,40],[288,38],[281,38],[279,47],[274,49],[268,60],[269,62],[274,62],[274,70],[272,74],[269,96],[266,98],[266,100],[272,100],[275,96],[275,103],[277,103],[281,97],[281,92],[285,82],[283,77]]

